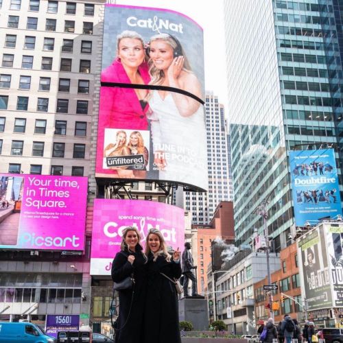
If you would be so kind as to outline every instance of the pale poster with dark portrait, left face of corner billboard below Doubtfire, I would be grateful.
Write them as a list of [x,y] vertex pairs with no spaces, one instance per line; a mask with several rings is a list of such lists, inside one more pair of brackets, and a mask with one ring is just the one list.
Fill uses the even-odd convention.
[[307,309],[332,307],[330,268],[324,231],[316,228],[298,239],[299,276]]

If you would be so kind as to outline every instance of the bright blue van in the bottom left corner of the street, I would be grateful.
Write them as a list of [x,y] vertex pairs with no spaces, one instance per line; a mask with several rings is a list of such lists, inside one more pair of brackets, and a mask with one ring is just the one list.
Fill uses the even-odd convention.
[[0,343],[55,343],[31,322],[0,322]]

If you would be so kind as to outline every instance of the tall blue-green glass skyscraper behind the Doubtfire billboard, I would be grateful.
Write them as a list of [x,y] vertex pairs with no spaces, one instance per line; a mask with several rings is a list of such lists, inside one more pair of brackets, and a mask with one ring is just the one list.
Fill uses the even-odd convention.
[[335,148],[342,185],[343,1],[231,0],[224,13],[237,244],[263,231],[268,199],[278,251],[294,224],[289,150]]

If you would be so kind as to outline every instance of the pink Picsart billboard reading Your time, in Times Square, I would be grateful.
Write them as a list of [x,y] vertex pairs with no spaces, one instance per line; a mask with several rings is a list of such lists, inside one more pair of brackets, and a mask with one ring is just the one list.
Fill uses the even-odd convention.
[[84,250],[87,178],[0,174],[0,249]]

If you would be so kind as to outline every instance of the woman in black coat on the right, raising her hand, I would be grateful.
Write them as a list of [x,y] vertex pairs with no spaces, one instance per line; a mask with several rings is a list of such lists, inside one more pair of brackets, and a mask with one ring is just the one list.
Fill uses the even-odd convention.
[[[180,251],[169,255],[159,230],[151,229],[145,245],[147,295],[143,343],[181,343],[178,323],[178,294],[169,281],[181,276]],[[165,274],[163,276],[161,273]]]

